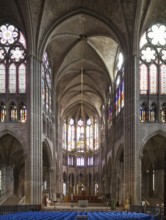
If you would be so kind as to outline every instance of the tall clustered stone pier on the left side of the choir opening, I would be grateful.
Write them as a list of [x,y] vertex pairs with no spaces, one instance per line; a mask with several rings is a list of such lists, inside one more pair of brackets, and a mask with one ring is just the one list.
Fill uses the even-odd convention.
[[26,204],[42,203],[42,104],[41,63],[29,57],[27,84],[29,93],[29,149],[25,163]]

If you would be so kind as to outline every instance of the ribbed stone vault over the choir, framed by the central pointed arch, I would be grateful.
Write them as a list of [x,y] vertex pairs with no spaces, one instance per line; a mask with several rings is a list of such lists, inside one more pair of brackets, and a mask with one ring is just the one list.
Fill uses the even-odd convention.
[[[85,14],[65,20],[55,28],[48,52],[62,116],[101,115],[113,82],[118,43],[107,25]],[[81,78],[82,73],[82,78]]]

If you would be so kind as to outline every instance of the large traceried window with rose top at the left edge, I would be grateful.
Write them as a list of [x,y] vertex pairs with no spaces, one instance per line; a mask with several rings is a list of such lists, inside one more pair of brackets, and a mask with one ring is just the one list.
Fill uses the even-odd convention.
[[14,25],[3,24],[0,26],[0,93],[25,93],[25,80],[25,38]]

